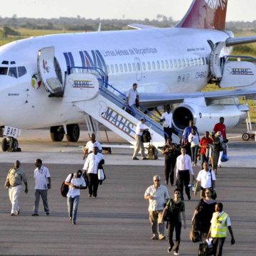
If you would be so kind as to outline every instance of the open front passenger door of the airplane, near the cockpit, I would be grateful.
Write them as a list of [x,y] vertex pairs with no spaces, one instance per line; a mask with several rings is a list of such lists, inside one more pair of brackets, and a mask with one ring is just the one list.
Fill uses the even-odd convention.
[[46,47],[38,50],[38,73],[46,90],[53,95],[63,93],[63,85],[55,71],[55,48]]

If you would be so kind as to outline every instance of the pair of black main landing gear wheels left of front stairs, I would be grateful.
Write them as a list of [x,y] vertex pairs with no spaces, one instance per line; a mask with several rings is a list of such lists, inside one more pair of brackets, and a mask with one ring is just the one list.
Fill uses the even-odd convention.
[[66,135],[68,142],[78,142],[80,137],[78,124],[67,124],[66,134],[63,125],[50,127],[50,138],[53,142],[62,142],[64,135]]

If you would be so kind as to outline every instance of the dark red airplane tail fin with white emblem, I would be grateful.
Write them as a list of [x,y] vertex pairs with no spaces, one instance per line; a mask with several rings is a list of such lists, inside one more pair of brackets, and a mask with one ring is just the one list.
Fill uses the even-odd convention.
[[228,0],[193,0],[176,28],[225,29]]

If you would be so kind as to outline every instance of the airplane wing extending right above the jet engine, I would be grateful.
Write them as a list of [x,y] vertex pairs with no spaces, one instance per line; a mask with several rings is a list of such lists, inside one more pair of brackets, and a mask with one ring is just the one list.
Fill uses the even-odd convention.
[[220,100],[233,97],[246,97],[249,100],[256,100],[256,89],[243,90],[221,90],[215,92],[189,92],[189,93],[139,93],[139,102],[145,107],[156,107],[157,105],[166,105],[181,103],[184,99],[204,97],[206,100]]

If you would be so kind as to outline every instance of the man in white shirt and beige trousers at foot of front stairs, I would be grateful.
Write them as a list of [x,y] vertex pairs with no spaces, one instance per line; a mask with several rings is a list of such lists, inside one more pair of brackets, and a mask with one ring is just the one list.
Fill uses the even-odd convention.
[[142,134],[145,130],[148,130],[148,128],[145,125],[146,119],[144,117],[141,118],[141,121],[137,124],[137,127],[135,129],[135,139],[136,139],[136,145],[134,146],[134,154],[132,155],[133,160],[139,160],[137,158],[137,154],[139,152],[139,149],[142,154],[142,160],[146,160],[146,155],[145,155],[145,149],[144,149],[144,144],[142,142]]

